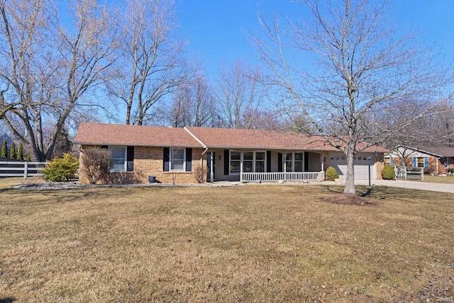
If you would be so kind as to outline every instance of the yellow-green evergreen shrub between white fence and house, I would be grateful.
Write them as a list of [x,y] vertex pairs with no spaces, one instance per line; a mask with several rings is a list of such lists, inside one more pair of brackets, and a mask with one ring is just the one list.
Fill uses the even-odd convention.
[[54,158],[43,170],[44,180],[62,182],[74,177],[79,168],[79,160],[70,153],[65,153],[63,158]]

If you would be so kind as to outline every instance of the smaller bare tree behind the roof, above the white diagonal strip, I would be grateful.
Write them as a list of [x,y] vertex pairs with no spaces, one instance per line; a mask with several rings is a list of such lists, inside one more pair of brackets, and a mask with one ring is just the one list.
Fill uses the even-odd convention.
[[179,84],[172,99],[170,123],[182,126],[215,126],[216,106],[211,87],[202,75]]

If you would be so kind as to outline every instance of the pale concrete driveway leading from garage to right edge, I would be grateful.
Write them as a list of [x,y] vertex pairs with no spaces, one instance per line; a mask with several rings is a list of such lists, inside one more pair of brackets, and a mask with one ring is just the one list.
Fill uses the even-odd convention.
[[[404,180],[372,180],[370,183],[372,185],[377,185],[377,186],[429,190],[431,192],[450,192],[450,193],[454,193],[454,184],[415,182],[415,181],[404,181]],[[358,184],[358,185],[369,185],[369,181],[368,180],[357,180],[357,181],[355,181],[355,184]]]

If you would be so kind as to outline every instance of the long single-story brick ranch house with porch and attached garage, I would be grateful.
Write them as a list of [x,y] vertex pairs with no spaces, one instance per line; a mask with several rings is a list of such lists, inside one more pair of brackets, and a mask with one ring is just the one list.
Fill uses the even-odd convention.
[[[84,149],[109,148],[111,171],[121,182],[196,182],[194,169],[209,181],[323,180],[333,166],[345,180],[345,154],[319,136],[251,129],[172,128],[81,123],[75,143]],[[355,179],[381,178],[384,150],[370,147],[355,157]],[[381,160],[381,161],[380,161]],[[81,156],[80,180],[87,183]]]

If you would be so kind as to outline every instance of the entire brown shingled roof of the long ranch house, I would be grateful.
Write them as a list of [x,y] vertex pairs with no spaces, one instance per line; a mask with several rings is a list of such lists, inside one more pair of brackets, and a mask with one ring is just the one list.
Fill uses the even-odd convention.
[[[196,137],[199,141],[196,140]],[[87,145],[136,145],[187,148],[246,148],[267,150],[337,150],[321,136],[238,128],[187,126],[135,126],[126,124],[81,123],[75,143]],[[367,152],[384,148],[372,146]]]

